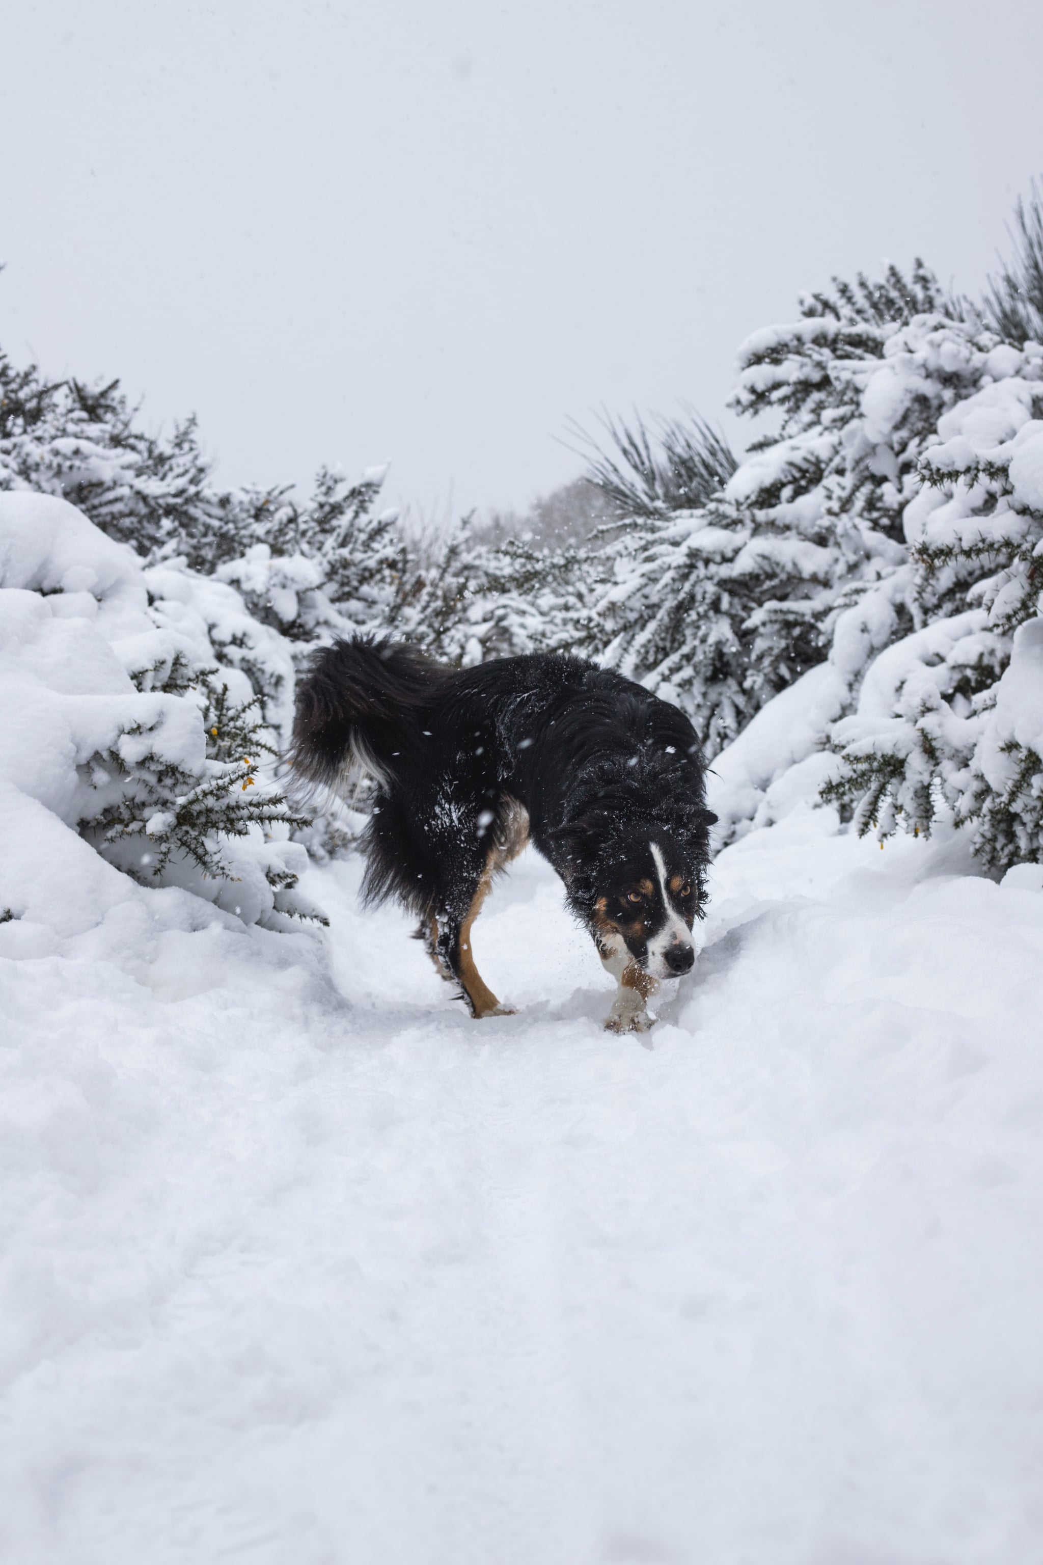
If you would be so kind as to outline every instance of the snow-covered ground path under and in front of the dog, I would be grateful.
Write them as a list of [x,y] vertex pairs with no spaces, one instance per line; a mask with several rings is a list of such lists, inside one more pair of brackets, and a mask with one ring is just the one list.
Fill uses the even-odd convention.
[[0,961],[5,1565],[1040,1559],[1043,895],[824,820],[652,1047],[530,856],[480,1025],[350,864]]

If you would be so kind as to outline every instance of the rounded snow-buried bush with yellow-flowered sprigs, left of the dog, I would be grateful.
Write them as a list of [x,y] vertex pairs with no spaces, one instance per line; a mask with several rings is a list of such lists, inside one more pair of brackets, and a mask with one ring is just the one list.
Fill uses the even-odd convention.
[[[28,822],[0,901],[17,916],[31,905],[42,867],[30,844],[58,872],[78,837],[138,881],[247,923],[314,916],[294,890],[306,854],[289,833],[303,822],[260,768],[272,751],[260,698],[214,660],[210,624],[246,610],[183,567],[149,576],[66,501],[0,495],[0,765]],[[152,596],[170,577],[178,596]],[[266,634],[256,626],[255,646]]]

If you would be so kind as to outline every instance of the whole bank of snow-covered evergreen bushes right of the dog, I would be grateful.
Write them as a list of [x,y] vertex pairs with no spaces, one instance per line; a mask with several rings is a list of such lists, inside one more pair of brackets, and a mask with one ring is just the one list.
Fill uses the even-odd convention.
[[1020,233],[982,307],[916,263],[754,333],[732,405],[779,427],[696,504],[641,426],[591,471],[632,512],[602,656],[705,736],[719,840],[823,800],[882,839],[941,812],[988,865],[1043,858],[1038,202]]

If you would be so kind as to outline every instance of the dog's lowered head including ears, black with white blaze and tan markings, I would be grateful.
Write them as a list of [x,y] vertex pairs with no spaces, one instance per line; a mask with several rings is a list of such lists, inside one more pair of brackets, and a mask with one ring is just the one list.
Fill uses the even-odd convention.
[[[702,916],[704,898],[701,847],[647,825],[622,839],[602,839],[586,862],[577,864],[571,900],[604,956],[625,953],[652,978],[690,972],[696,959],[691,926]],[[577,858],[583,854],[574,854],[574,864]]]

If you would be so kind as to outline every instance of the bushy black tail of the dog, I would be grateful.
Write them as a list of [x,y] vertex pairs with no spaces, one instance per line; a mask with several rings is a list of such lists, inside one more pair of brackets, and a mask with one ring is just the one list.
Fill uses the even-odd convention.
[[424,707],[447,675],[405,642],[353,635],[316,653],[297,689],[292,772],[336,787],[352,767],[385,781],[405,770],[428,726]]

